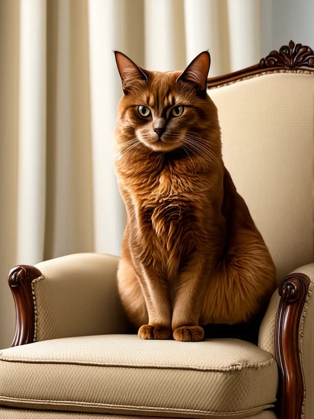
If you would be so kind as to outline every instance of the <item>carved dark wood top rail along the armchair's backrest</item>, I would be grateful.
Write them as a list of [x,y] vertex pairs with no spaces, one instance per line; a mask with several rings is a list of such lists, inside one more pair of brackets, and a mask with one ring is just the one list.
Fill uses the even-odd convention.
[[284,45],[279,51],[271,51],[258,64],[235,71],[234,73],[209,78],[207,87],[210,89],[221,84],[252,77],[256,74],[279,70],[307,70],[314,72],[314,52],[312,48],[302,44],[294,44],[293,41],[290,41],[289,45]]

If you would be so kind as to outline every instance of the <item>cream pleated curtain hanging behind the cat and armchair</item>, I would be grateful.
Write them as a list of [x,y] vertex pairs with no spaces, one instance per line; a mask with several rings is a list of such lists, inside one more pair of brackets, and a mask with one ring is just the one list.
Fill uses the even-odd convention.
[[156,70],[209,49],[210,75],[261,58],[259,0],[0,0],[0,347],[17,263],[119,254],[112,50]]

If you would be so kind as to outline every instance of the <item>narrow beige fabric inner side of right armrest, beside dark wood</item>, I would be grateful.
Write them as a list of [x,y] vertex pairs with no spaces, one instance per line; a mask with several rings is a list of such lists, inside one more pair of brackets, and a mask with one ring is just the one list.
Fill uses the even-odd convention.
[[259,347],[270,352],[275,357],[275,326],[280,295],[278,288],[273,293],[267,311],[261,323],[259,332]]

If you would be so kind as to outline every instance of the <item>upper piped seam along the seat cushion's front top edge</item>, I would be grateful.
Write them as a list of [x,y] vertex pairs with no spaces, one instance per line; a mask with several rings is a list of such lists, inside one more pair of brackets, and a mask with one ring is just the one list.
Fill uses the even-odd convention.
[[83,366],[103,366],[103,367],[122,367],[122,368],[153,368],[153,369],[187,369],[192,371],[213,371],[213,372],[228,372],[228,371],[240,371],[245,368],[256,368],[260,369],[271,365],[274,358],[263,361],[258,364],[253,363],[236,363],[222,368],[214,367],[202,367],[192,365],[154,365],[154,364],[120,364],[120,363],[84,363],[77,361],[66,361],[66,360],[27,360],[27,359],[13,359],[0,356],[0,361],[4,362],[16,362],[16,363],[39,363],[39,364],[67,364],[67,365],[83,365]]

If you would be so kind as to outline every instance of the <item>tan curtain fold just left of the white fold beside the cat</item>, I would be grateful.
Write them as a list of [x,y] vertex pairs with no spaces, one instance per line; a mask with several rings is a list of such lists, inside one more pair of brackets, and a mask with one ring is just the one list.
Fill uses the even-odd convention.
[[[62,4],[63,0],[59,0]],[[93,138],[91,132],[88,3],[71,0],[71,218],[67,253],[94,251]],[[62,93],[61,99],[62,100]]]

